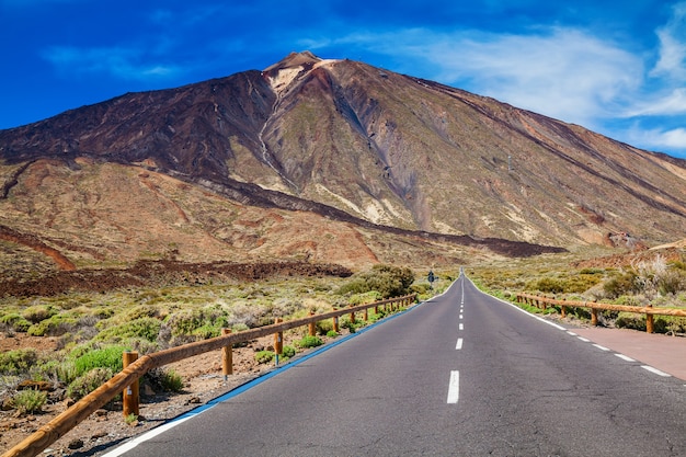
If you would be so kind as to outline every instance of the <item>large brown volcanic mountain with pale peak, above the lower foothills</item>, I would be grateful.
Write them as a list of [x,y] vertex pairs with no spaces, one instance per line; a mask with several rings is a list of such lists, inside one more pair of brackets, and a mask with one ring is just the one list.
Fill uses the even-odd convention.
[[[128,93],[1,130],[0,158],[0,205],[11,202],[18,216],[3,212],[0,224],[16,228],[23,220],[22,230],[34,235],[46,224],[31,217],[32,203],[24,201],[35,195],[28,178],[36,167],[78,181],[111,163],[129,178],[138,174],[122,179],[123,192],[147,185],[145,173],[165,174],[243,207],[455,237],[450,242],[569,247],[630,232],[654,244],[686,236],[684,160],[493,99],[307,52],[263,71]],[[88,202],[95,198],[89,186],[98,184],[83,179],[75,186]],[[111,194],[96,198],[103,214],[114,204]],[[119,208],[126,210],[141,218],[130,205]],[[160,222],[193,225],[172,219]],[[118,242],[146,244],[146,230]],[[227,242],[213,230],[211,239]],[[171,235],[161,239],[183,244]]]

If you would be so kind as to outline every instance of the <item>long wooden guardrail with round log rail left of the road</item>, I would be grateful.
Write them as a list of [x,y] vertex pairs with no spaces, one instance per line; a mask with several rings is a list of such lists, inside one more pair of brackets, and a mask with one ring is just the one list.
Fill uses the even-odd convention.
[[[355,312],[365,312],[365,320],[367,319],[367,310],[375,308],[378,313],[379,307],[391,307],[391,310],[399,309],[403,306],[409,306],[416,299],[416,294],[407,295],[404,297],[390,298],[387,300],[375,301],[366,305],[358,305],[348,308],[342,308],[322,315],[308,316],[307,318],[296,319],[285,322],[276,322],[271,325],[260,327],[256,329],[250,329],[238,333],[227,333],[211,338],[208,340],[196,341],[194,343],[184,344],[176,347],[171,347],[164,351],[144,355],[140,358],[136,356],[130,357],[130,353],[124,353],[125,368],[113,376],[107,382],[93,390],[88,396],[76,402],[71,408],[57,415],[55,419],[43,425],[35,433],[27,436],[21,443],[9,449],[2,455],[2,457],[34,457],[43,452],[47,446],[55,443],[61,436],[64,436],[71,429],[84,421],[89,415],[104,407],[110,400],[116,397],[118,393],[124,392],[124,414],[127,415],[129,411],[137,411],[138,392],[137,382],[138,379],[148,373],[152,368],[158,368],[164,365],[169,365],[174,362],[182,361],[184,358],[193,357],[195,355],[204,354],[206,352],[222,350],[222,366],[224,374],[227,376],[232,373],[230,366],[231,361],[231,347],[233,344],[243,343],[256,338],[266,336],[270,334],[275,335],[275,342],[277,335],[283,341],[283,332],[289,329],[298,327],[309,325],[309,333],[313,334],[315,323],[333,319],[334,329],[338,329],[338,318],[343,315],[351,315],[351,320],[355,321]],[[279,345],[275,344],[275,349]],[[132,358],[136,358],[132,361]],[[134,404],[130,401],[134,401]]]

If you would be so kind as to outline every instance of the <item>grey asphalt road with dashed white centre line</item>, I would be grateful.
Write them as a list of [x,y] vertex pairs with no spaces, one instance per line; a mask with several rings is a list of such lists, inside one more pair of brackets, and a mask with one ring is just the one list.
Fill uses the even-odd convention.
[[462,276],[156,433],[108,456],[684,456],[686,386]]

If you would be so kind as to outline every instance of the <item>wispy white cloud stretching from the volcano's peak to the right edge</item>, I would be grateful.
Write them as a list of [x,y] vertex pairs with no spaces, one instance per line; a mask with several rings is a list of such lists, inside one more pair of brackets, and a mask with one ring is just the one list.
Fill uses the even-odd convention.
[[[490,95],[656,150],[686,150],[686,2],[641,49],[575,27],[519,33],[423,28],[312,38],[312,48],[352,46],[390,56],[395,69]],[[631,121],[621,127],[617,119]],[[626,123],[625,123],[626,124]],[[618,127],[619,126],[619,127]]]

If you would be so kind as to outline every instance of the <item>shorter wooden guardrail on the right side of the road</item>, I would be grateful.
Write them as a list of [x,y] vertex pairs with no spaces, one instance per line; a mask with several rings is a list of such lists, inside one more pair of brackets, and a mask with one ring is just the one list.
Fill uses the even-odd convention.
[[595,301],[576,301],[576,300],[558,300],[556,298],[541,297],[537,295],[529,294],[517,294],[516,295],[517,302],[527,304],[530,306],[535,306],[537,308],[546,309],[548,305],[557,305],[560,306],[560,313],[562,317],[567,316],[567,308],[590,308],[591,309],[591,324],[598,324],[598,310],[610,310],[610,311],[626,311],[626,312],[634,312],[637,315],[645,315],[645,332],[653,332],[653,316],[676,316],[686,318],[686,309],[676,309],[676,308],[653,308],[652,305],[649,306],[627,306],[627,305],[610,305],[610,304],[598,304]]

